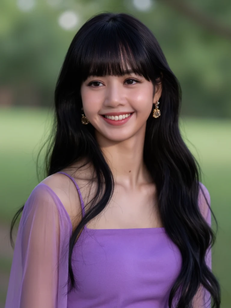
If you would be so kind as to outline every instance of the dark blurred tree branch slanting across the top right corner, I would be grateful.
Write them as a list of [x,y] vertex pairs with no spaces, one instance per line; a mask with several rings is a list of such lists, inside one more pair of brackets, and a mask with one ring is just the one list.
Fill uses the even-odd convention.
[[219,36],[224,36],[231,40],[231,28],[215,21],[212,17],[202,13],[201,11],[195,9],[190,4],[179,1],[179,0],[158,0],[160,3],[165,3],[171,6],[174,10],[180,12],[184,16],[187,16],[198,25],[203,26],[205,29],[218,34]]

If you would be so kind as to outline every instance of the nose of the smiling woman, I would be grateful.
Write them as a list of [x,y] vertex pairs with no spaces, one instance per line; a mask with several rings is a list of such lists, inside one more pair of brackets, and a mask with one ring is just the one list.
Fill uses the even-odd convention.
[[119,82],[111,82],[107,85],[104,106],[116,108],[117,106],[125,104],[125,97],[123,87]]

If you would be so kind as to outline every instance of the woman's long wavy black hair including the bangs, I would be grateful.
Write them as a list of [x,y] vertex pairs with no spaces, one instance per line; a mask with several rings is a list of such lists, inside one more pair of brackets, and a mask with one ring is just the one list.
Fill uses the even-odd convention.
[[[216,235],[198,206],[200,166],[179,130],[180,84],[152,32],[135,17],[124,13],[97,14],[79,29],[67,51],[55,88],[55,121],[45,158],[46,175],[85,159],[94,166],[97,182],[94,202],[70,238],[68,292],[78,288],[71,266],[76,238],[84,225],[103,211],[114,189],[111,170],[95,139],[95,129],[91,124],[81,123],[80,86],[89,75],[121,76],[128,72],[127,65],[151,81],[154,89],[156,83],[162,84],[161,116],[153,120],[150,114],[147,120],[144,163],[156,184],[166,233],[182,255],[183,266],[172,286],[168,305],[172,306],[180,288],[177,307],[192,307],[193,297],[202,285],[211,294],[213,307],[219,308],[220,286],[205,262],[206,250],[213,246]],[[208,201],[207,204],[211,210]],[[22,209],[12,220],[10,236]]]

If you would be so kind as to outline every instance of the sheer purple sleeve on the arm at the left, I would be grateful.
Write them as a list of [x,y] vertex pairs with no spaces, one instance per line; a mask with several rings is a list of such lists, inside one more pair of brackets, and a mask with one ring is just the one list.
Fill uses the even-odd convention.
[[60,199],[38,184],[24,206],[5,308],[66,308],[72,226]]

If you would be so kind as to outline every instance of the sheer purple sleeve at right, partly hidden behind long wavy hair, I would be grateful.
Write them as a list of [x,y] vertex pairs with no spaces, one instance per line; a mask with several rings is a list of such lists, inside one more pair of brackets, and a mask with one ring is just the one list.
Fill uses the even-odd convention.
[[[209,206],[211,205],[210,195],[208,189],[205,187],[204,184],[200,183],[201,189],[199,193],[199,200],[198,204],[201,210],[201,213],[203,217],[205,218],[207,224],[211,227],[211,210],[209,209]],[[202,190],[205,194],[205,197],[202,193]],[[207,199],[209,206],[206,203]],[[207,249],[207,252],[205,254],[205,261],[209,269],[212,271],[212,250],[211,246]],[[196,294],[193,302],[194,306],[193,308],[211,308],[211,295],[209,291],[207,291],[204,287],[201,287],[199,289],[198,293]]]

